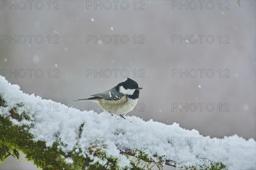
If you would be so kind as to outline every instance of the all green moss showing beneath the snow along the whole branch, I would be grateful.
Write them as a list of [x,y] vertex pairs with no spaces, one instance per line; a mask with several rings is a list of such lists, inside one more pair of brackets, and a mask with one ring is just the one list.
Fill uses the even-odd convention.
[[[22,103],[20,103],[22,105]],[[0,106],[2,108],[8,107],[6,102],[0,95]],[[8,109],[7,109],[8,110]],[[5,111],[7,111],[5,110]],[[1,110],[2,111],[2,110]],[[22,113],[17,112],[17,108],[11,108],[8,110],[9,115],[7,117],[0,115],[0,161],[4,161],[8,156],[15,156],[19,159],[19,152],[25,153],[26,159],[33,161],[38,168],[44,170],[78,170],[78,169],[89,169],[89,170],[119,170],[117,158],[112,156],[107,157],[107,154],[102,150],[101,147],[91,145],[87,154],[82,154],[79,146],[73,148],[72,151],[64,153],[60,147],[61,139],[58,139],[52,144],[47,146],[45,141],[34,140],[34,136],[29,133],[29,128],[33,125],[14,125],[12,119],[22,121],[26,119],[31,121],[29,114],[23,111]],[[84,124],[81,124],[78,130],[78,137],[81,137]],[[104,147],[104,146],[103,146]],[[136,161],[131,161],[131,167],[125,167],[123,169],[141,170],[151,169],[154,165],[159,169],[163,168],[163,162],[160,156],[155,153],[153,156],[148,156],[142,150],[130,150],[128,153],[123,153],[130,156],[136,156]],[[104,166],[99,161],[93,161],[91,156],[96,156],[99,160],[107,160],[107,164]],[[72,161],[66,161],[71,159]],[[72,162],[72,163],[71,163]],[[185,169],[196,170],[194,167],[184,167]],[[221,170],[225,169],[225,165],[220,162],[212,162],[211,167],[208,170]]]

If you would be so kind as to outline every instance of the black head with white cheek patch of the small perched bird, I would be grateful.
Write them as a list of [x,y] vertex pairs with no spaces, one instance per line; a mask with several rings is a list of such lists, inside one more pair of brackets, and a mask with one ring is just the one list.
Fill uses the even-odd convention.
[[120,93],[126,95],[131,99],[138,99],[140,94],[139,90],[142,88],[139,88],[137,82],[130,78],[127,78],[125,79],[125,81],[120,82],[118,85],[116,85],[115,89],[116,91],[119,91]]

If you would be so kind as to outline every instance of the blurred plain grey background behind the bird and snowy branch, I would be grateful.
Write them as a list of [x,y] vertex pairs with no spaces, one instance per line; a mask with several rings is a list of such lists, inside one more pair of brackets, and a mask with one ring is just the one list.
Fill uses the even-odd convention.
[[[102,3],[102,10],[100,6],[94,9],[95,1],[42,1],[41,10],[37,9],[41,8],[37,1],[33,1],[31,9],[26,3],[23,10],[20,8],[24,5],[12,1],[15,2],[17,9],[15,6],[9,9],[10,4],[1,1],[0,68],[1,75],[20,85],[24,93],[99,113],[96,105],[89,108],[92,102],[72,100],[112,88],[125,79],[128,71],[128,77],[143,90],[135,111],[127,115],[169,125],[177,122],[204,136],[238,134],[245,139],[256,138],[256,1],[243,0],[241,7],[236,0],[204,1],[201,9],[200,3],[193,1],[197,4],[194,10],[195,3],[190,1],[168,0],[118,1],[116,9],[115,3],[108,1],[112,5],[109,10],[105,9],[109,3],[104,1],[97,1]],[[187,9],[180,3],[187,4]],[[126,4],[128,9],[124,9]],[[12,38],[17,35],[17,43],[9,42],[9,35]],[[26,42],[23,43],[23,36],[18,38],[20,35],[26,37]],[[27,35],[34,36],[31,44]],[[38,35],[44,38],[41,44],[40,38],[35,41]],[[90,35],[98,38],[102,35],[102,40],[94,43],[88,40]],[[111,43],[107,43],[108,36],[103,38],[105,35],[112,37]],[[116,43],[112,35],[119,35]],[[181,43],[174,40],[175,35],[184,40]],[[202,43],[198,35],[204,35]],[[121,36],[128,37],[128,43],[124,43],[125,38],[122,42]],[[207,42],[207,36],[214,37],[214,42],[209,43],[211,38]],[[194,37],[198,40],[193,44]],[[9,75],[15,69],[17,77]],[[22,69],[26,70],[25,77]],[[34,69],[31,77],[27,69]],[[37,69],[42,69],[43,77],[35,76]],[[102,77],[88,74],[101,69]],[[113,70],[108,77],[108,69],[119,69],[116,77]],[[127,70],[120,74],[123,69]],[[188,69],[190,74],[172,75],[173,69],[183,72]],[[197,70],[195,78],[191,69]],[[202,77],[198,69],[205,69]],[[209,78],[211,72],[206,75],[207,69],[214,72],[212,78]],[[174,108],[173,103],[183,106],[187,103],[188,111]],[[192,103],[198,106],[195,111],[192,111],[194,105],[189,109]],[[205,103],[202,111],[198,103]],[[207,103],[214,105],[213,111],[206,110]],[[0,168],[35,169],[11,158],[0,164]]]

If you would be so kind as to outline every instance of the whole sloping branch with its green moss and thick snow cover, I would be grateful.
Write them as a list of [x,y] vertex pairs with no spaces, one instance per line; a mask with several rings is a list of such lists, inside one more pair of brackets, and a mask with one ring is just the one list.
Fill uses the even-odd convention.
[[[177,123],[79,111],[0,78],[0,159],[18,151],[43,169],[256,169],[256,142],[202,136]],[[127,156],[135,156],[131,159]],[[149,164],[142,165],[140,160]],[[150,164],[151,163],[151,164]]]

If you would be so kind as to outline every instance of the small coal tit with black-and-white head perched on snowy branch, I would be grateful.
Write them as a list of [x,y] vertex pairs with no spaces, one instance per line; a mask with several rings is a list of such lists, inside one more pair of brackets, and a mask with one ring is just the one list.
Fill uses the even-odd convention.
[[141,89],[137,82],[127,78],[110,90],[90,95],[92,96],[90,98],[73,100],[73,102],[90,100],[98,103],[104,111],[108,111],[112,116],[115,114],[125,119],[122,114],[134,109]]

